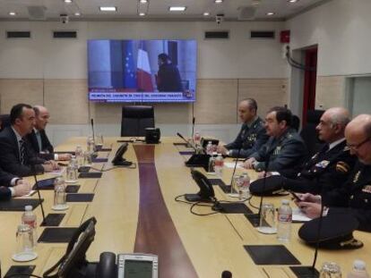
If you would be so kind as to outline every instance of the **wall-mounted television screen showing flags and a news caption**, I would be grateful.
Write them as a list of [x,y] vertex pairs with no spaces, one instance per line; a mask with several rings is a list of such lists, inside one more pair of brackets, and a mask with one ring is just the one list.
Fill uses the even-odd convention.
[[88,40],[89,99],[193,102],[195,40]]

